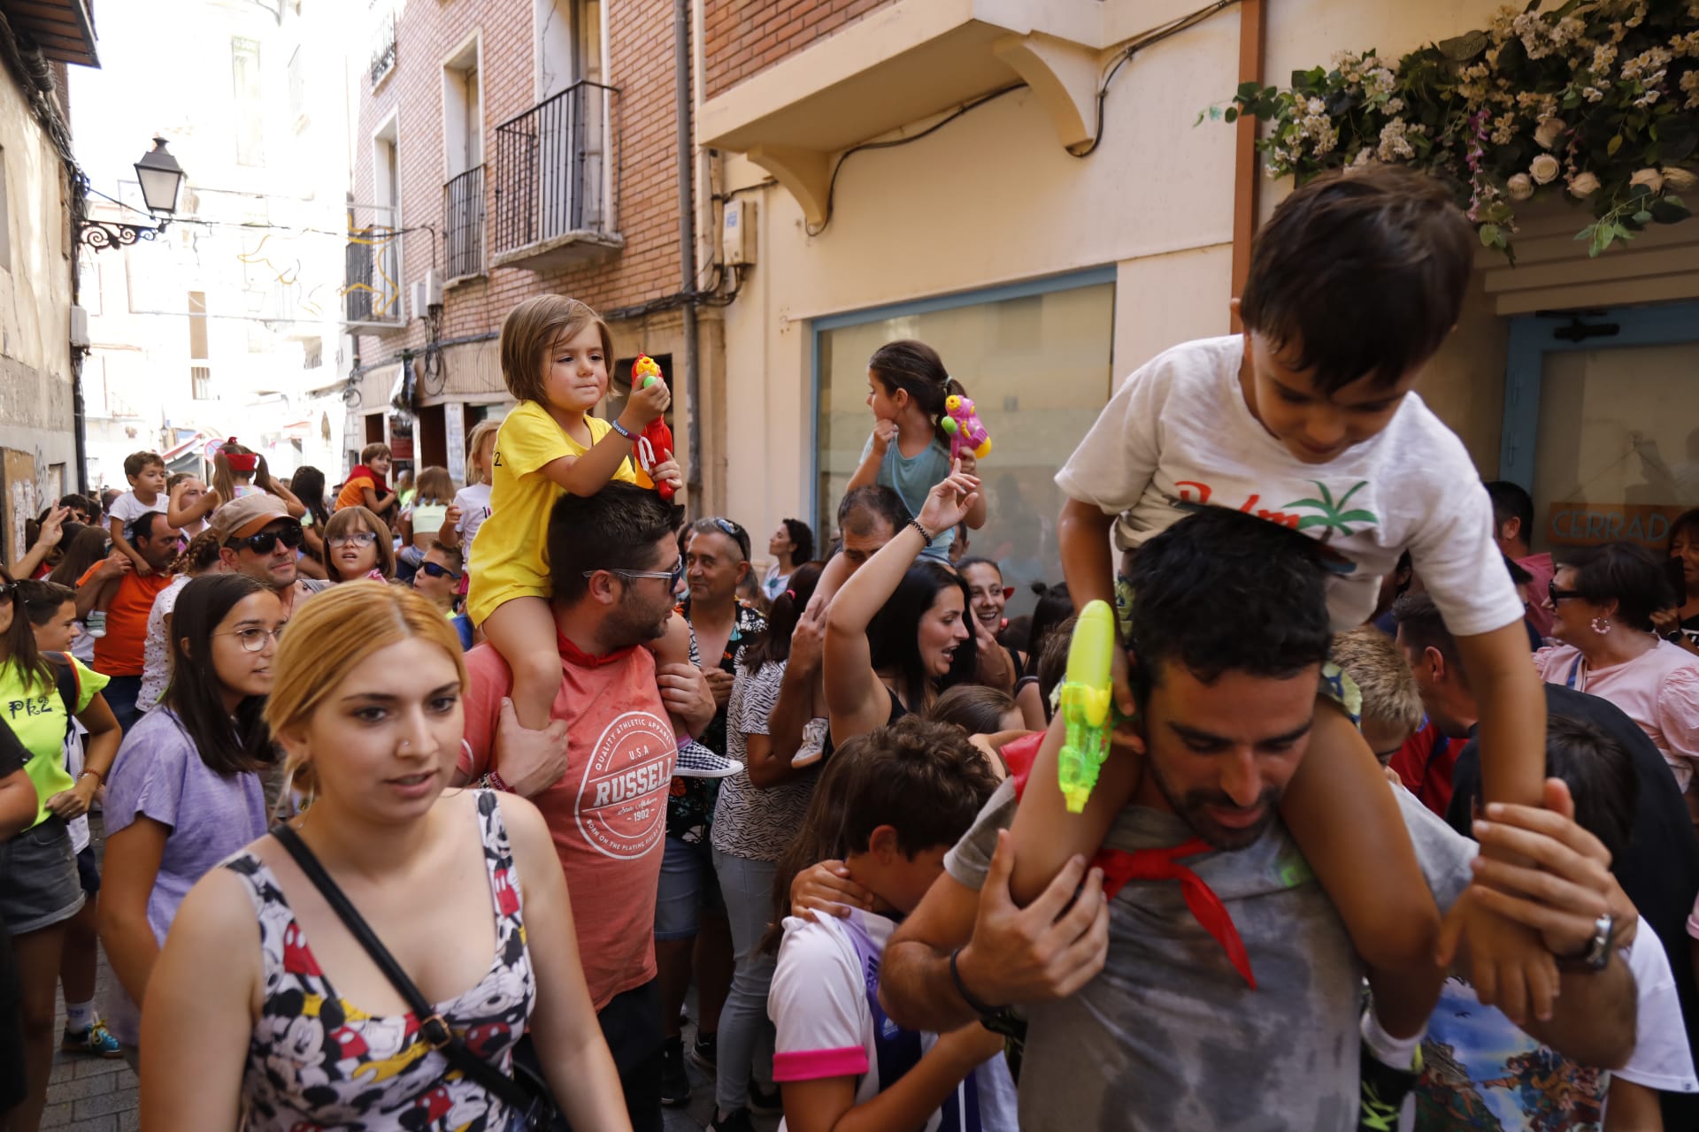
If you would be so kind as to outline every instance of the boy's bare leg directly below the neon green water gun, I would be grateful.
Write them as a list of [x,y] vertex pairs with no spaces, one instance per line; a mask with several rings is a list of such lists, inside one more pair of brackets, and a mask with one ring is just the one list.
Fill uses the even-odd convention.
[[1045,731],[1021,804],[1014,811],[1009,832],[1014,838],[1009,893],[1019,905],[1036,899],[1069,859],[1082,855],[1089,860],[1103,847],[1115,816],[1132,801],[1143,772],[1138,752],[1111,747],[1084,813],[1069,813],[1057,782],[1057,752],[1062,750],[1065,735],[1067,721],[1057,715]]

